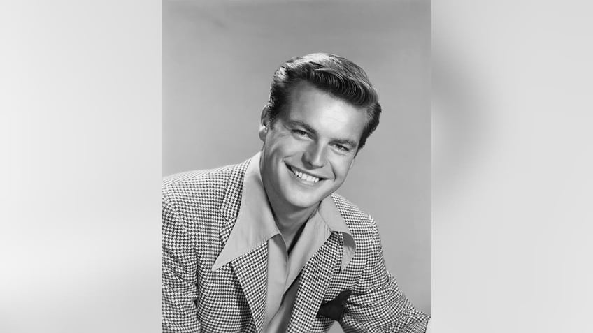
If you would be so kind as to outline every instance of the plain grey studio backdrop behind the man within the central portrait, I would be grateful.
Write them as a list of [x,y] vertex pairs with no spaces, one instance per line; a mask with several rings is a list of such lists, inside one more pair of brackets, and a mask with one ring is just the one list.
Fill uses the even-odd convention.
[[355,61],[383,114],[338,192],[375,217],[387,268],[431,313],[430,28],[424,0],[164,1],[163,174],[255,154],[271,76],[287,59]]

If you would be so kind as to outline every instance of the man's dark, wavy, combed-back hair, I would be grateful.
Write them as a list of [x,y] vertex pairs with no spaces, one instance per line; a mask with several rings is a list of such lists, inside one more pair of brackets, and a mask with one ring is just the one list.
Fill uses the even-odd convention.
[[300,82],[325,91],[357,108],[366,109],[367,121],[358,150],[379,125],[381,105],[369,77],[352,61],[335,54],[313,53],[286,61],[276,70],[270,87],[266,112],[271,122],[290,102],[290,91]]

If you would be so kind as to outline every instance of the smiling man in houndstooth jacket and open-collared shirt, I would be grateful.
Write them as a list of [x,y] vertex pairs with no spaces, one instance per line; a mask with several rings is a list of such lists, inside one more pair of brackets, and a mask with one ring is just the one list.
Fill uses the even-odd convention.
[[274,74],[258,154],[165,179],[164,332],[424,332],[375,221],[334,193],[380,112],[356,64],[296,57]]

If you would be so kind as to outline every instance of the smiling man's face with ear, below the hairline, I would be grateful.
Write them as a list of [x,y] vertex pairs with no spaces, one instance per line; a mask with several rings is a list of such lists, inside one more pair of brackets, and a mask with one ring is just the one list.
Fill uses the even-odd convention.
[[273,209],[307,209],[336,191],[352,167],[365,122],[364,110],[306,82],[294,87],[273,124],[262,117],[260,168]]

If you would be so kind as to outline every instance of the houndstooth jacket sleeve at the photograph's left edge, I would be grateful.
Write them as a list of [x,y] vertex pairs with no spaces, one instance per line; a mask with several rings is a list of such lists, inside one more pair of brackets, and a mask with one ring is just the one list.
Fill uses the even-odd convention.
[[197,257],[185,222],[163,198],[163,332],[199,332]]

